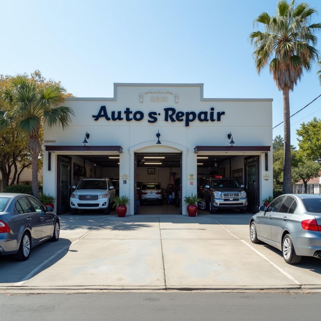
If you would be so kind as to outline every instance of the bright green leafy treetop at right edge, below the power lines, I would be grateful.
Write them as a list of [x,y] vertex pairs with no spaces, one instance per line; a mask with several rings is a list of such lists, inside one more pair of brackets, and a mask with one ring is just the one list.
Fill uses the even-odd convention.
[[301,155],[308,160],[321,164],[321,119],[314,117],[308,123],[302,123],[297,129],[298,145]]

